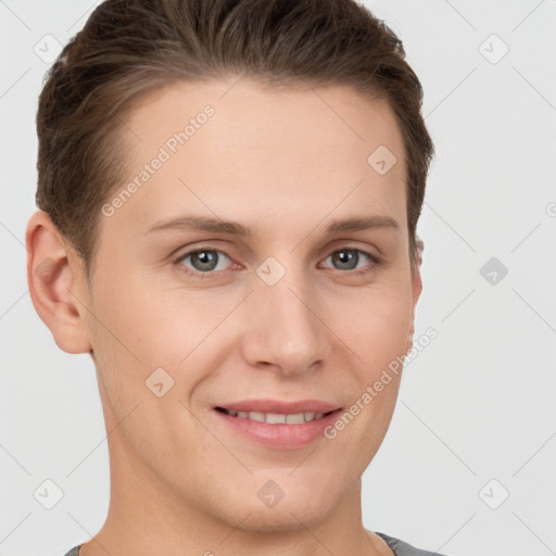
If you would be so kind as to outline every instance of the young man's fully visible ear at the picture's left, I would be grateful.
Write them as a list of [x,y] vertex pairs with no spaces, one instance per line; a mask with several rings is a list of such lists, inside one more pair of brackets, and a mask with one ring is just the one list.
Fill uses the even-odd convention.
[[35,309],[61,350],[90,352],[84,305],[88,288],[83,261],[43,211],[30,217],[25,243],[27,281]]

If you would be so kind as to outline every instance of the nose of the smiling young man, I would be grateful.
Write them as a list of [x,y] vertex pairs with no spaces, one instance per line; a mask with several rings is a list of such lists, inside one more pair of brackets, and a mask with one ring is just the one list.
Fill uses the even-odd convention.
[[331,331],[311,278],[291,269],[274,286],[253,278],[242,334],[245,361],[286,376],[321,366],[331,352]]

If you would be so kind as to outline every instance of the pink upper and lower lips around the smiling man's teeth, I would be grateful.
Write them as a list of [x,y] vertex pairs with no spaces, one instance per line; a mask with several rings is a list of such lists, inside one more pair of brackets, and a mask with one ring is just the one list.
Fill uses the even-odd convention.
[[[260,422],[241,417],[232,417],[217,407],[231,412],[260,412],[295,414],[305,412],[328,413],[319,419],[293,425]],[[276,450],[295,450],[304,447],[324,438],[325,429],[331,425],[342,412],[337,404],[318,400],[283,402],[277,400],[251,400],[231,404],[223,404],[213,408],[217,418],[235,433],[265,447]],[[331,413],[330,413],[331,412]]]

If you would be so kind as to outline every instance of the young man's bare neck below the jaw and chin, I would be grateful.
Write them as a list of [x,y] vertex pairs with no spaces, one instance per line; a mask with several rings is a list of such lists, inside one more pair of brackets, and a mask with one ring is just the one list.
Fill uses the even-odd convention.
[[[116,463],[117,462],[117,465]],[[361,480],[323,519],[294,516],[280,530],[257,528],[250,514],[238,511],[226,521],[180,500],[175,490],[111,446],[111,497],[106,520],[79,556],[365,556],[393,553],[378,535],[365,530],[361,513]]]

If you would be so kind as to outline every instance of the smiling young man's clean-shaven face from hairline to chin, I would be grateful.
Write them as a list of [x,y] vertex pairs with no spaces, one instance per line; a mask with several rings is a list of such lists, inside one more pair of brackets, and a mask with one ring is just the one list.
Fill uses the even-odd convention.
[[168,86],[125,118],[132,169],[100,216],[84,326],[113,484],[311,527],[356,495],[400,375],[375,384],[412,345],[402,137],[350,88],[232,83]]

